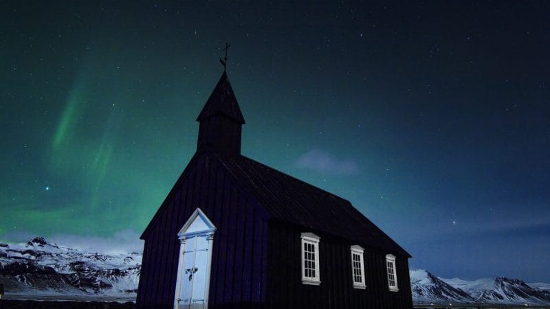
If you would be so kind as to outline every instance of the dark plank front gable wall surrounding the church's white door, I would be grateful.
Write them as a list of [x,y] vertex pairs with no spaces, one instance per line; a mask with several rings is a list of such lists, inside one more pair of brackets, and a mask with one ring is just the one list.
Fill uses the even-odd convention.
[[265,213],[206,152],[190,162],[155,215],[153,226],[144,233],[137,308],[173,308],[179,255],[177,232],[197,207],[217,227],[209,308],[256,308],[265,301]]

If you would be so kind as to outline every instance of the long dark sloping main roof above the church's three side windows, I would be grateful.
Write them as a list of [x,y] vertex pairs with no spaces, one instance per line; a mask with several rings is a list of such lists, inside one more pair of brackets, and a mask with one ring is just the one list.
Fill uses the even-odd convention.
[[410,257],[344,198],[243,155],[217,157],[272,218]]

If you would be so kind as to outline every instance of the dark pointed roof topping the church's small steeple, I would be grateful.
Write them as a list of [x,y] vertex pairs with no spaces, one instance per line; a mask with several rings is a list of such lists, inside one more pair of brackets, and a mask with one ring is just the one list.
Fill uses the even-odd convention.
[[228,75],[225,71],[221,75],[212,94],[210,94],[210,98],[204,104],[201,113],[199,113],[197,122],[201,122],[217,113],[228,116],[239,124],[245,124],[245,118],[243,117],[243,113],[241,113],[239,104],[236,102],[235,93],[231,88]]

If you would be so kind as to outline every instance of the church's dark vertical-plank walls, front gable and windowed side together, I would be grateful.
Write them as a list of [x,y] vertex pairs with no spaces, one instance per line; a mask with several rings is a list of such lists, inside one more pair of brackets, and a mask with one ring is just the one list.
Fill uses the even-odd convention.
[[321,237],[321,284],[303,285],[300,233],[307,230],[267,221],[254,199],[210,156],[203,154],[190,163],[146,235],[137,308],[173,308],[177,232],[197,207],[217,227],[210,309],[412,308],[406,257],[397,256],[399,292],[390,292],[385,257],[389,252],[360,244],[365,249],[366,289],[355,289],[349,249],[353,244],[316,231],[311,232]]

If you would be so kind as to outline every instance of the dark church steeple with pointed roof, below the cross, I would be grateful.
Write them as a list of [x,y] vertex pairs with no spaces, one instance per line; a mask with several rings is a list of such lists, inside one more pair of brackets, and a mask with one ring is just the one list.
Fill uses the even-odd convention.
[[197,122],[200,123],[197,149],[210,146],[221,155],[241,154],[241,129],[245,119],[225,71],[204,104]]

